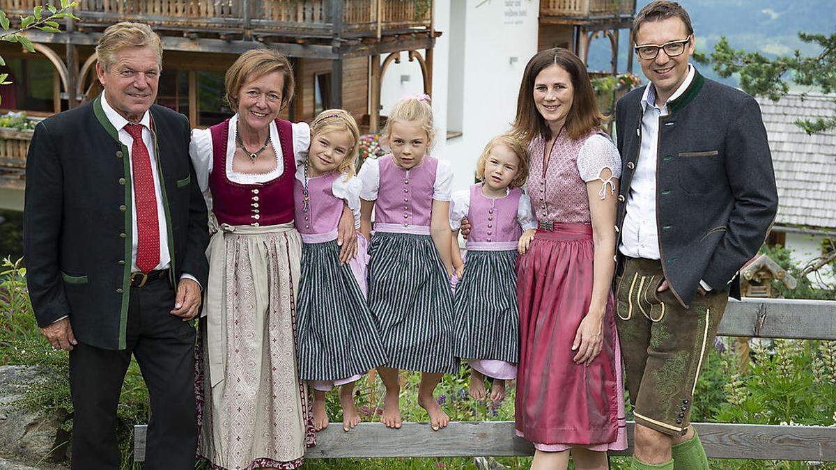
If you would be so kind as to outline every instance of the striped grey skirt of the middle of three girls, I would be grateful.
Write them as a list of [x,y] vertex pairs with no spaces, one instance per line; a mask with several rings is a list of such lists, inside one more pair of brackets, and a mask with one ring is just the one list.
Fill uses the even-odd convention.
[[375,232],[369,248],[369,308],[387,367],[453,374],[450,282],[429,235]]

